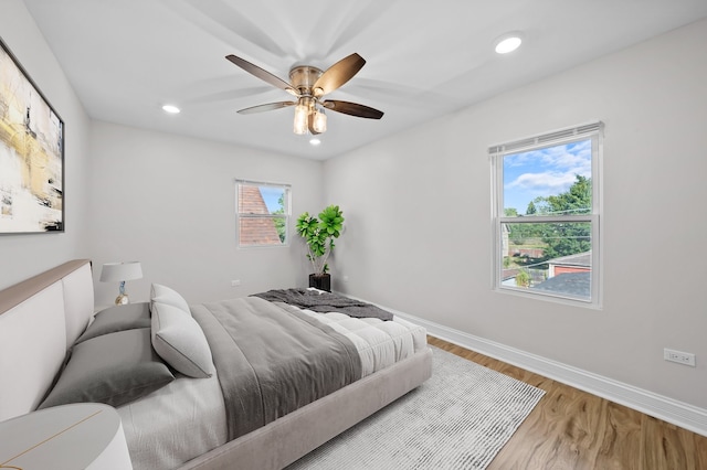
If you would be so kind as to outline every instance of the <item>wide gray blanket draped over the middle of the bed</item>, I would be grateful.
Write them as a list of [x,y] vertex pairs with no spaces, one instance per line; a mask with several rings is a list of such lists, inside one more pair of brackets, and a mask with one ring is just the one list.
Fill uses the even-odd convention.
[[191,306],[191,312],[211,346],[230,439],[361,377],[356,346],[294,309],[249,297]]

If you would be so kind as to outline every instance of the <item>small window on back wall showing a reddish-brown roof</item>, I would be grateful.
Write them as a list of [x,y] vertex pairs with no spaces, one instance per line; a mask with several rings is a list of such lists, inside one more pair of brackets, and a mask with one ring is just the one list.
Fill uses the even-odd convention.
[[287,245],[289,185],[235,181],[240,247]]

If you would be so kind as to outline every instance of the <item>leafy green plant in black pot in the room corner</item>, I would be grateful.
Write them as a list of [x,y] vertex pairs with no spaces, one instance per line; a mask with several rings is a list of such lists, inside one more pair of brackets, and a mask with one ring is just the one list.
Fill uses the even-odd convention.
[[331,277],[327,273],[327,258],[334,249],[334,241],[341,235],[344,215],[338,205],[329,205],[319,213],[319,218],[305,212],[297,218],[297,233],[307,243],[307,259],[314,273],[309,275],[309,287],[331,290]]

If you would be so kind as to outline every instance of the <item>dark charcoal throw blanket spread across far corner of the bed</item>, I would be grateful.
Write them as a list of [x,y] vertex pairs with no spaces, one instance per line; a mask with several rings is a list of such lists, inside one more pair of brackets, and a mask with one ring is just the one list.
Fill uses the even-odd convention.
[[341,312],[349,317],[379,318],[384,321],[393,319],[393,314],[389,311],[331,292],[319,293],[308,289],[275,289],[253,296],[273,302],[289,303],[319,313]]

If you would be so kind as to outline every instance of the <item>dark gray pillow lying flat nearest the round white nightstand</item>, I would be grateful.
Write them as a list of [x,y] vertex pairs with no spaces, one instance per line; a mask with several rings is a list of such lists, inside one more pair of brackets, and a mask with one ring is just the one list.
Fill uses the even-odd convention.
[[103,334],[76,344],[40,408],[67,403],[119,406],[175,380],[150,345],[150,329]]

